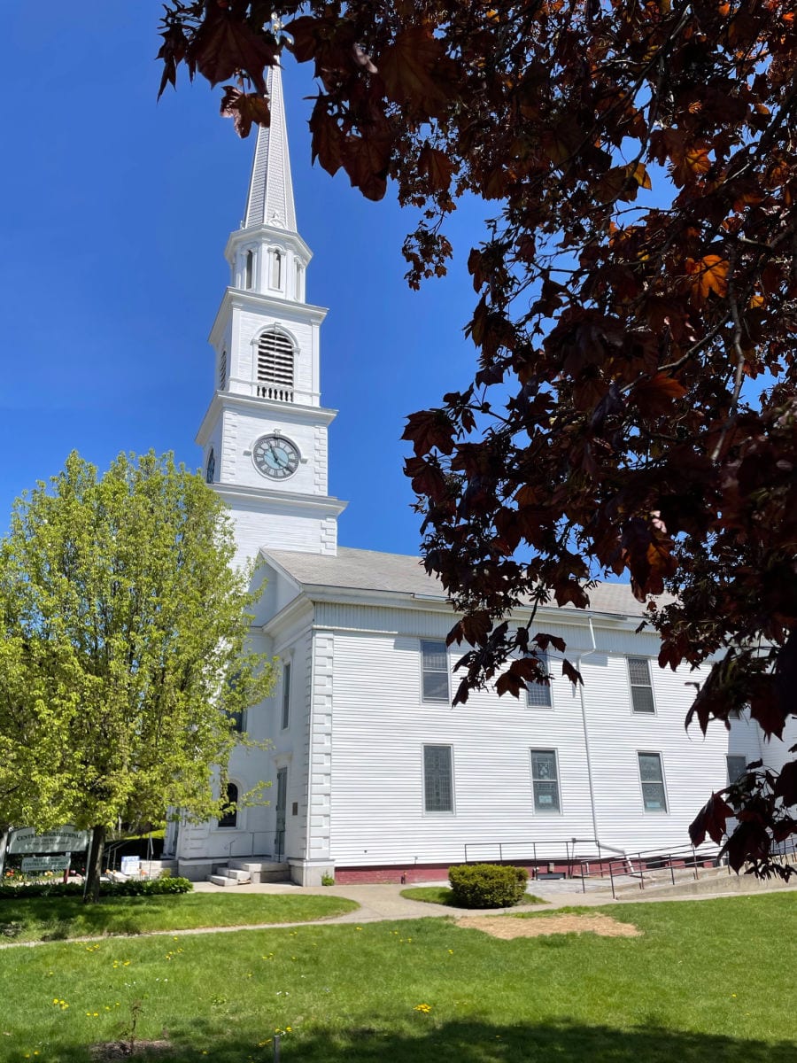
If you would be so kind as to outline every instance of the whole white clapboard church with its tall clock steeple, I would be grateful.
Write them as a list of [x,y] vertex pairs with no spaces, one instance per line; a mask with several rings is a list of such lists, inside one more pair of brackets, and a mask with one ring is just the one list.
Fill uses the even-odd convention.
[[686,732],[706,670],[658,668],[658,637],[637,634],[627,586],[599,585],[587,611],[539,610],[583,687],[552,653],[549,687],[452,708],[462,651],[445,646],[454,615],[440,585],[416,557],[338,546],[336,411],[320,390],[326,310],[306,300],[311,252],[296,227],[276,68],[270,94],[244,219],[225,250],[215,390],[197,442],[239,560],[261,561],[253,643],[282,662],[274,695],[241,723],[270,747],[234,752],[228,794],[258,780],[272,789],[268,805],[171,824],[165,856],[192,879],[224,867],[231,883],[238,868],[316,885],[441,877],[465,859],[544,865],[598,842],[610,853],[686,845],[709,793],[762,754],[780,766],[797,735],[764,745],[744,715],[730,735],[719,724],[706,738]]

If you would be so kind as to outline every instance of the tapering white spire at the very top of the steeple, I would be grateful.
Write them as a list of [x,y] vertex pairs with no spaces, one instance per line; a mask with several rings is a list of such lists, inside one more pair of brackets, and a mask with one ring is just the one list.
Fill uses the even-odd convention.
[[283,75],[278,66],[269,68],[266,84],[271,107],[271,125],[258,126],[243,227],[268,225],[271,229],[295,233],[296,214],[293,207],[293,182],[288,155]]

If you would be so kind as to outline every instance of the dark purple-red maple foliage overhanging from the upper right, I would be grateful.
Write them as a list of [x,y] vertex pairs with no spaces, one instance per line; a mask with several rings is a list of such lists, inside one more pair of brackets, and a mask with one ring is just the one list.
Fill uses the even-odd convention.
[[[780,737],[797,691],[792,0],[168,0],[162,31],[162,91],[181,64],[230,82],[241,135],[268,121],[283,49],[312,65],[313,159],[420,209],[410,285],[445,271],[462,193],[494,203],[468,263],[473,383],[405,432],[426,568],[470,647],[456,699],[544,681],[553,640],[510,626],[514,607],[587,607],[592,578],[627,574],[662,667],[715,661],[689,719],[749,706]],[[794,762],[752,766],[693,840],[785,874],[795,802]]]

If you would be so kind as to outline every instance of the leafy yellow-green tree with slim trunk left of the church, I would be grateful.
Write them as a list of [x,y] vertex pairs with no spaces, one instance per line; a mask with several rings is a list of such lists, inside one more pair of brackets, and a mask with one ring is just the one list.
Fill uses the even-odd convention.
[[[168,808],[206,819],[225,798],[233,719],[268,695],[248,649],[255,596],[233,566],[223,503],[170,455],[77,453],[14,507],[0,549],[0,826],[91,829],[103,845]],[[244,800],[256,800],[259,788]]]

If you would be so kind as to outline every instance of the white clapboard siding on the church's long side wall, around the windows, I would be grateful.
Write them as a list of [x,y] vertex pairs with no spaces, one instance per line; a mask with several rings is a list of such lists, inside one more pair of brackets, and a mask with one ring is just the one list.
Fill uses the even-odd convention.
[[[345,619],[356,628],[352,612]],[[413,619],[398,612],[392,610],[394,628]],[[388,619],[360,615],[359,624],[378,620],[387,627]],[[423,625],[416,620],[416,626]],[[569,634],[586,649],[582,630]],[[597,629],[596,637],[601,646],[638,656],[641,644],[656,647],[655,637]],[[581,702],[567,680],[554,680],[553,709],[492,693],[457,708],[424,704],[420,638],[384,629],[336,632],[334,670],[330,853],[339,865],[460,860],[465,844],[594,837]],[[642,716],[631,712],[625,655],[593,654],[582,671],[598,838],[627,849],[684,844],[688,824],[724,782],[725,732],[707,740],[684,732],[694,689],[680,674],[654,663],[657,712]],[[454,814],[424,812],[424,744],[453,748]],[[532,748],[557,750],[561,814],[535,812]],[[638,752],[662,756],[666,813],[644,811]]]

